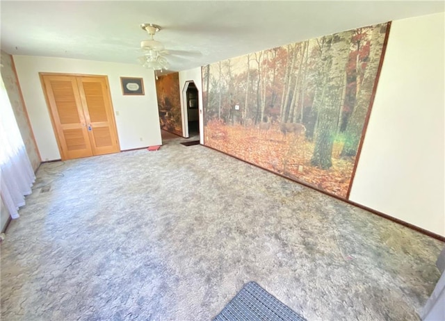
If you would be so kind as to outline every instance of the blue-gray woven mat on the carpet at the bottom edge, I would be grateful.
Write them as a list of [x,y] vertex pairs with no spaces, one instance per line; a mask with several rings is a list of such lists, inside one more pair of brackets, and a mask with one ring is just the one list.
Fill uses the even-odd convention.
[[255,282],[249,282],[213,321],[306,321]]

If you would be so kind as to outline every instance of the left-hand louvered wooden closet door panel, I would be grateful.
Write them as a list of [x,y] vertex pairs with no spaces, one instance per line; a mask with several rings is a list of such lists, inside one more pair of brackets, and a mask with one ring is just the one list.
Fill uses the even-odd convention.
[[63,160],[92,156],[76,77],[42,75],[42,79],[60,156]]

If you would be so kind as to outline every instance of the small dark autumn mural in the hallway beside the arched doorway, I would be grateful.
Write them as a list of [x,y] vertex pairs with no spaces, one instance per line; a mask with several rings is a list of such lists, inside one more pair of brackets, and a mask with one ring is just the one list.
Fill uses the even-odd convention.
[[182,135],[181,100],[179,97],[179,74],[166,74],[156,80],[159,122],[161,129]]

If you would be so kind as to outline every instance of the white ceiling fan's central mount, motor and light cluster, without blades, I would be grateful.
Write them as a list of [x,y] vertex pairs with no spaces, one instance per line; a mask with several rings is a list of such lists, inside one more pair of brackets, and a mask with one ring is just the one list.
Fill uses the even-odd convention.
[[162,42],[154,40],[154,34],[161,31],[161,26],[157,24],[141,24],[140,28],[147,31],[150,38],[148,40],[142,40],[140,42],[140,49],[144,52],[144,56],[138,58],[143,67],[153,69],[156,71],[163,71],[170,68],[170,63],[163,56],[167,55],[168,51],[165,50]]

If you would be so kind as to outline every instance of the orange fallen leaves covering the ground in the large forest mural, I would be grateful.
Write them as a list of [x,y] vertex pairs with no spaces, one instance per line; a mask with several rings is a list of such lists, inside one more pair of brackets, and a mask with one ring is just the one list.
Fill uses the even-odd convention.
[[334,142],[332,167],[322,170],[311,165],[314,142],[304,135],[284,137],[277,124],[268,130],[255,126],[227,126],[211,121],[204,129],[205,145],[241,158],[277,174],[302,181],[339,197],[348,193],[354,158],[340,158],[343,142]]

